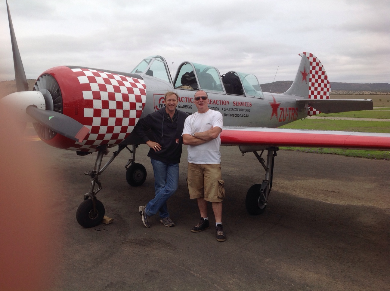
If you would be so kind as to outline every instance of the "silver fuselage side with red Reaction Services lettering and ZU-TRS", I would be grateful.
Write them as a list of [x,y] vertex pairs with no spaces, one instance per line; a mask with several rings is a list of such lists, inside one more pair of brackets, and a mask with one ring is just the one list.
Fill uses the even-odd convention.
[[[163,108],[165,106],[163,97],[167,91],[174,91],[179,95],[177,109],[188,115],[197,111],[193,102],[195,90],[173,88],[168,84],[164,86],[165,82],[146,76],[144,82],[147,88],[159,87],[160,90],[147,90],[141,117]],[[264,93],[262,98],[258,98],[214,92],[207,92],[207,95],[208,107],[222,113],[224,125],[279,127],[307,116],[305,106],[296,103],[296,99],[301,99],[298,96]]]

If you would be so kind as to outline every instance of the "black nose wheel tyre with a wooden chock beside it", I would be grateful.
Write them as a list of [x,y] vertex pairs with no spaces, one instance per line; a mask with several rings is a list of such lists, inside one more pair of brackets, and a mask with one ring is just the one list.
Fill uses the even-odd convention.
[[96,213],[93,213],[92,199],[84,200],[77,208],[76,219],[83,228],[93,228],[99,225],[104,217],[103,203],[96,199]]

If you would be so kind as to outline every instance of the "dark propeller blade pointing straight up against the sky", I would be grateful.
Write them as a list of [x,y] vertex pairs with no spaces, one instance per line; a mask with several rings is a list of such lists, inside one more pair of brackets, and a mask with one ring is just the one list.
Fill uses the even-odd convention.
[[14,56],[16,88],[18,89],[18,92],[28,91],[27,78],[23,68],[22,59],[20,57],[18,43],[16,42],[14,26],[12,25],[11,20],[11,13],[9,12],[8,2],[6,3],[8,12],[9,32],[11,34],[12,54]]

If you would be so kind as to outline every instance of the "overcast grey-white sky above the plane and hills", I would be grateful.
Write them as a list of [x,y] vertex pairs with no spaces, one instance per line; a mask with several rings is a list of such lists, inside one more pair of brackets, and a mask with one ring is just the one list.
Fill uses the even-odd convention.
[[[293,80],[307,51],[330,82],[390,83],[389,0],[9,0],[28,79],[60,65],[130,72],[161,55]],[[0,0],[0,81],[15,79]]]

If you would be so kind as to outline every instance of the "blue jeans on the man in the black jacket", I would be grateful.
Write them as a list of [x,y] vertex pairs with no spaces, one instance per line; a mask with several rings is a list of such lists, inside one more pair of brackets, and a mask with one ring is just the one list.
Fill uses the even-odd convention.
[[154,197],[145,207],[145,213],[152,216],[160,211],[160,217],[169,217],[167,200],[177,190],[179,182],[179,164],[167,164],[159,160],[150,159],[154,173]]

